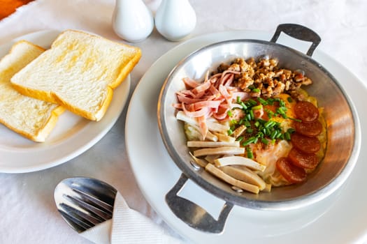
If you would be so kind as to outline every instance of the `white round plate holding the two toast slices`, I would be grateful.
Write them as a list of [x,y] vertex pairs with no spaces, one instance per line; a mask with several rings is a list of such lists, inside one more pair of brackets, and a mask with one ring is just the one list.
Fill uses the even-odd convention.
[[[59,31],[39,31],[21,36],[0,47],[5,56],[17,40],[49,48]],[[24,173],[48,169],[80,155],[96,144],[117,121],[127,102],[130,77],[115,89],[110,107],[101,121],[88,121],[71,112],[59,116],[46,142],[32,142],[0,124],[0,172]]]

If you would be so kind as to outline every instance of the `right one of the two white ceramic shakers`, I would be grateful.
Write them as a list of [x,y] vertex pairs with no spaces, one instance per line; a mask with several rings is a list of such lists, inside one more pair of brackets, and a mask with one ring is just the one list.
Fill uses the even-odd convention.
[[154,20],[162,36],[178,41],[194,30],[196,14],[188,0],[162,0]]

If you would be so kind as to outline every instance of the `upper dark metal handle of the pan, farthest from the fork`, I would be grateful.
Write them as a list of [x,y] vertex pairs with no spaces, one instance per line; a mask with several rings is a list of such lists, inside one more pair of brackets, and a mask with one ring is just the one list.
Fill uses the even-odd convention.
[[315,31],[312,31],[312,29],[308,29],[305,26],[301,26],[299,24],[280,24],[278,25],[273,38],[271,38],[272,43],[276,43],[278,40],[281,32],[286,33],[288,36],[292,36],[293,38],[296,38],[298,40],[305,40],[308,42],[311,42],[312,45],[308,49],[308,52],[306,53],[308,56],[312,56],[313,52],[315,51],[317,45],[319,45],[321,38]]

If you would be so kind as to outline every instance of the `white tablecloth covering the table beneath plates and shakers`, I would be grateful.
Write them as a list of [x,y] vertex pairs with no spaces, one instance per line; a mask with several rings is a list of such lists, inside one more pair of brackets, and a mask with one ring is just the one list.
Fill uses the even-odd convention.
[[[157,0],[145,2],[153,10],[157,8]],[[192,37],[233,29],[273,33],[280,23],[303,24],[322,37],[318,49],[342,63],[367,86],[367,1],[190,2],[197,15]],[[110,24],[114,5],[114,0],[36,0],[0,21],[0,45],[43,29],[82,29],[122,41]],[[147,68],[178,44],[164,39],[156,30],[134,44],[141,47],[143,56],[131,73],[130,95]],[[124,109],[101,141],[63,165],[27,174],[0,174],[0,243],[89,243],[69,228],[55,208],[53,190],[59,181],[71,176],[90,176],[114,185],[131,208],[178,236],[147,204],[136,185],[124,143],[126,112]]]

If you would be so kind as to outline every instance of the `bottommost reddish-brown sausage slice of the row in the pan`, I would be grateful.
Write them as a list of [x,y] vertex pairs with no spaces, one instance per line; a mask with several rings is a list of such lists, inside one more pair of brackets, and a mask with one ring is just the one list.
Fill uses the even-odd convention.
[[276,167],[289,183],[301,183],[306,179],[305,169],[292,165],[287,158],[279,158]]

